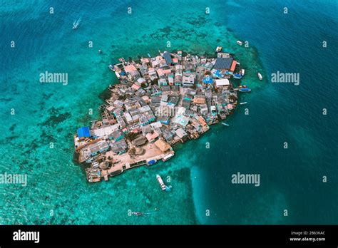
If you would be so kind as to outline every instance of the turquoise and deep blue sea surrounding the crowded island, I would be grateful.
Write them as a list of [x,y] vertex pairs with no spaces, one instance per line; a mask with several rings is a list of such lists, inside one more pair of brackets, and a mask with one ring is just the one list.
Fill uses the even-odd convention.
[[[28,177],[26,187],[0,184],[0,224],[338,223],[337,1],[0,3],[0,173]],[[175,146],[167,162],[86,182],[73,134],[99,117],[116,83],[108,65],[216,46],[235,53],[252,88],[230,126]],[[68,84],[40,83],[45,71],[68,73]],[[271,83],[277,71],[299,73],[299,85]],[[237,172],[259,174],[260,186],[232,184]],[[170,177],[172,192],[156,174]]]

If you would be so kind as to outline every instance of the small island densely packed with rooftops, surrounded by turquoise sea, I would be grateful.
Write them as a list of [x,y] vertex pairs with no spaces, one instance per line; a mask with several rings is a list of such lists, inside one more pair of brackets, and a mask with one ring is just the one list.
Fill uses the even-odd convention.
[[108,67],[119,83],[109,86],[110,98],[99,110],[102,120],[78,128],[76,160],[88,165],[88,182],[108,180],[140,165],[153,165],[175,155],[173,145],[196,139],[210,125],[224,122],[237,106],[230,79],[245,75],[230,53],[217,47],[217,56],[165,51],[140,61]]

